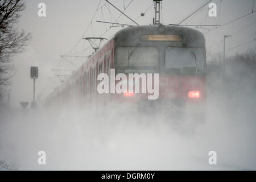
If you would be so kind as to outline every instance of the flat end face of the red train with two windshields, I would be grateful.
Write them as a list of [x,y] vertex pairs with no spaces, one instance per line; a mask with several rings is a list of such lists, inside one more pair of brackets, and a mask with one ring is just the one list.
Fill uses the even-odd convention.
[[[187,113],[203,121],[206,56],[201,32],[162,24],[129,27],[117,32],[114,41],[115,75],[125,73],[127,80],[131,74],[140,76],[137,80],[127,81],[127,87],[129,84],[134,87],[117,96],[120,102],[136,104],[141,112]],[[146,93],[142,88],[144,74]],[[154,81],[156,74],[159,74],[158,81]],[[155,89],[158,93],[154,93],[158,96],[153,99],[148,97],[153,94],[148,81],[153,81],[151,89],[158,87]],[[139,92],[135,90],[136,84],[139,84]]]

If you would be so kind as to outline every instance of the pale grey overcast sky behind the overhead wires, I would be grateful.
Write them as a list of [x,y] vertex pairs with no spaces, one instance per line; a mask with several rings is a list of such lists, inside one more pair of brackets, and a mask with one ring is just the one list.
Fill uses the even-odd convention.
[[[120,15],[117,10],[109,6],[112,14],[110,15],[108,3],[104,0],[33,0],[25,2],[27,8],[20,18],[19,28],[26,32],[31,32],[33,38],[26,51],[14,57],[16,74],[13,86],[11,87],[11,103],[16,107],[19,107],[19,101],[32,100],[31,66],[39,67],[39,78],[36,80],[36,94],[42,93],[43,96],[46,96],[55,86],[60,84],[59,78],[54,76],[55,73],[51,69],[75,69],[67,61],[61,60],[60,55],[68,53],[69,55],[88,56],[93,50],[86,49],[84,51],[89,44],[84,40],[79,42],[83,35],[85,37],[100,36],[108,30],[102,37],[110,38],[122,28],[113,27],[109,29],[110,24],[96,22],[96,20],[113,22]],[[111,0],[110,2],[123,10],[124,5],[129,5],[131,0]],[[207,0],[163,0],[163,20],[161,22],[163,24],[179,23],[180,20],[205,2]],[[242,15],[251,13],[253,10],[253,0],[213,0],[212,2],[217,4],[217,17],[209,17],[208,7],[205,6],[198,13],[183,22],[183,24],[224,24]],[[46,3],[46,17],[38,16],[39,3]],[[140,25],[150,24],[154,17],[154,7],[151,6],[152,4],[152,0],[133,0],[125,10],[125,13],[132,19],[136,19],[136,22]],[[98,11],[96,11],[98,5],[100,6]],[[254,11],[255,9],[256,5],[254,5]],[[147,10],[145,15],[141,17],[141,13],[145,10]],[[96,15],[92,19],[95,12]],[[210,32],[203,28],[197,28],[197,30],[206,33],[207,51],[214,55],[217,52],[222,52],[223,42],[221,40],[224,35],[234,34],[232,38],[227,39],[226,49],[231,49],[255,39],[255,21],[256,13]],[[132,24],[125,16],[121,16],[118,22]],[[90,26],[85,32],[88,25]],[[212,29],[214,27],[206,28]],[[75,46],[76,44],[77,46]],[[237,47],[227,51],[227,55],[230,56],[236,52],[243,52],[248,49],[255,50],[255,45],[254,41],[245,46]],[[77,65],[86,60],[85,58],[68,59]]]

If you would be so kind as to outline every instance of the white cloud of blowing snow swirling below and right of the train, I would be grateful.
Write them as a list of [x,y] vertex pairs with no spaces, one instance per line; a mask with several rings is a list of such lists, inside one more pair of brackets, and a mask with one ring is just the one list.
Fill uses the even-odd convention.
[[[254,56],[254,57],[253,57]],[[250,65],[250,66],[249,66]],[[139,113],[129,105],[55,106],[1,113],[2,169],[255,170],[255,53],[211,60],[207,117]],[[230,79],[230,80],[229,80]],[[38,151],[47,164],[38,164]],[[209,151],[217,164],[209,165]],[[6,164],[3,165],[3,164]]]

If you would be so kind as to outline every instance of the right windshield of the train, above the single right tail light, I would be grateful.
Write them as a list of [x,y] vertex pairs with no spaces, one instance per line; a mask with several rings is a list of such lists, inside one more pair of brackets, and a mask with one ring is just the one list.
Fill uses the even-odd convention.
[[165,71],[167,73],[205,73],[205,51],[203,48],[168,47]]

